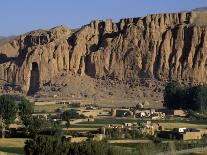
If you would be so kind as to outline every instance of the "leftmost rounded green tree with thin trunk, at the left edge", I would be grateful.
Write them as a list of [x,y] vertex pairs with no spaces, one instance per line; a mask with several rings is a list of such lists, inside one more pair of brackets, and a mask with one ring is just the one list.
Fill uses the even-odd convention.
[[16,103],[8,96],[0,96],[0,118],[1,118],[1,128],[2,128],[2,138],[5,137],[5,128],[11,124],[17,114]]

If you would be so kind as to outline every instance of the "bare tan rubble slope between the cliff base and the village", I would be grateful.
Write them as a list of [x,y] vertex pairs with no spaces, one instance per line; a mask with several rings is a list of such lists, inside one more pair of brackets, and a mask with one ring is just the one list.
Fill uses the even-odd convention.
[[132,106],[145,102],[148,107],[162,107],[164,85],[154,79],[116,81],[64,73],[44,83],[35,96],[39,101],[77,100],[104,106]]

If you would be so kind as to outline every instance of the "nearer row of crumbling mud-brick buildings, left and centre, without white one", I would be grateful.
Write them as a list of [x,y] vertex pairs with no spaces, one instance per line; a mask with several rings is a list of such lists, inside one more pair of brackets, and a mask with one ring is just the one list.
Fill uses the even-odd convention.
[[138,136],[153,136],[157,131],[159,131],[159,124],[152,123],[151,121],[147,121],[145,123],[123,123],[121,125],[109,124],[101,127],[90,136],[65,135],[64,140],[78,143],[87,140],[101,141],[104,138],[128,138],[127,135],[130,135],[133,132],[136,132]]

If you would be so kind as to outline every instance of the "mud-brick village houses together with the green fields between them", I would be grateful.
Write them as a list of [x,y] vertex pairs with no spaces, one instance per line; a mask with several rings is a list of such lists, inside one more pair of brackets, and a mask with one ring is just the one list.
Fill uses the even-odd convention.
[[[37,107],[43,104],[44,102],[35,103]],[[207,127],[199,128],[190,124],[185,126],[184,123],[176,126],[176,123],[169,128],[163,123],[168,122],[169,118],[186,120],[188,112],[181,109],[154,109],[149,108],[146,103],[138,103],[134,107],[101,107],[96,104],[83,105],[76,101],[50,104],[59,108],[49,112],[36,111],[32,116],[50,119],[61,125],[66,133],[71,133],[64,136],[64,139],[70,142],[107,139],[113,143],[113,140],[117,139],[123,142],[131,139],[133,143],[142,139],[152,140],[153,137],[165,140],[199,140],[207,134]],[[62,120],[61,113],[67,110],[75,111],[81,118]]]

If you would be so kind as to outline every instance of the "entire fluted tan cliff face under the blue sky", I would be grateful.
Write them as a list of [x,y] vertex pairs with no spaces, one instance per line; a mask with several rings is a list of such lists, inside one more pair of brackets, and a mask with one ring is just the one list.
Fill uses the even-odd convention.
[[118,80],[153,78],[206,83],[206,12],[92,21],[21,35],[0,46],[0,79],[31,89],[63,73]]

